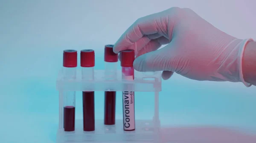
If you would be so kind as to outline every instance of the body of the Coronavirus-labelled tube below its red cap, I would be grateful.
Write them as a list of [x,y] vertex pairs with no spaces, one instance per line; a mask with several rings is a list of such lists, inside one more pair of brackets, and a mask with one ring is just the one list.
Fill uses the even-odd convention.
[[[134,80],[134,68],[122,67],[122,78]],[[135,130],[134,92],[123,91],[123,126],[125,131]]]

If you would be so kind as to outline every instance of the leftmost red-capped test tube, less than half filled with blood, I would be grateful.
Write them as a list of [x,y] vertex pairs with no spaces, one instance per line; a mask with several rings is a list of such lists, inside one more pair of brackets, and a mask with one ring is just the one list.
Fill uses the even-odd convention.
[[[77,51],[63,51],[63,73],[64,79],[75,79],[77,67]],[[66,91],[64,94],[64,131],[75,131],[75,107],[76,107],[76,92]]]

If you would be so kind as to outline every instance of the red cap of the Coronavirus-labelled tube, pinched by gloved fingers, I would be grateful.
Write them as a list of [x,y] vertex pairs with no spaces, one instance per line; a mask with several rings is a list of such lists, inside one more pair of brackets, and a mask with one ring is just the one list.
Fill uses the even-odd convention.
[[122,50],[120,52],[121,66],[122,67],[133,67],[133,62],[135,59],[134,50]]

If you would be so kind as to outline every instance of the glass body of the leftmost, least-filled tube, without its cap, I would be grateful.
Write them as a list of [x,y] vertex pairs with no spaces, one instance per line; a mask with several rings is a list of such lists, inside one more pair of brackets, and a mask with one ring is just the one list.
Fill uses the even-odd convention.
[[[76,67],[63,67],[64,79],[76,78]],[[64,131],[75,131],[75,108],[76,108],[76,92],[65,91],[63,93],[64,108]]]

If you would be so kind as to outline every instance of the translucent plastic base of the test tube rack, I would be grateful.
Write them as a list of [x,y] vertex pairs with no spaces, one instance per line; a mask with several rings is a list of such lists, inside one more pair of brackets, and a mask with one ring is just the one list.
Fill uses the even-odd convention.
[[84,132],[83,120],[76,120],[74,132],[57,132],[57,143],[157,143],[159,126],[151,120],[136,120],[135,131],[123,131],[123,121],[115,125],[104,125],[103,120],[95,121],[95,131]]

